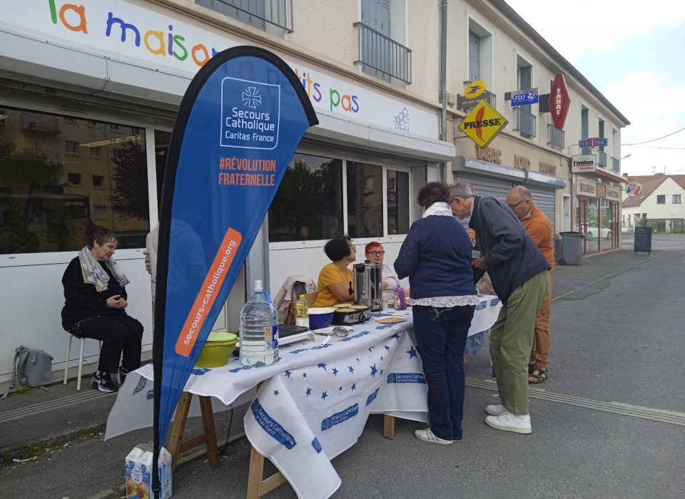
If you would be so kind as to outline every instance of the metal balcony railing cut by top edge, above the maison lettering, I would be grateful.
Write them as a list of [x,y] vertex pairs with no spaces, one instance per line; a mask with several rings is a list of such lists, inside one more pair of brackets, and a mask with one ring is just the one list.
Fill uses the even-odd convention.
[[[293,0],[195,0],[195,3],[263,29],[273,24],[293,33]],[[262,22],[255,22],[262,21]]]

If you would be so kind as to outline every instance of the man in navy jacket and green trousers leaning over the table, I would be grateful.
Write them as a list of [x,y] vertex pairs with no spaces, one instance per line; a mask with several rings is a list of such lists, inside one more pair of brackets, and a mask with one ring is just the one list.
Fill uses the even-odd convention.
[[528,358],[535,317],[549,287],[549,264],[514,212],[492,196],[475,196],[460,182],[450,185],[452,213],[476,232],[474,279],[485,270],[502,310],[490,331],[490,356],[500,404],[487,406],[485,423],[498,430],[531,433]]

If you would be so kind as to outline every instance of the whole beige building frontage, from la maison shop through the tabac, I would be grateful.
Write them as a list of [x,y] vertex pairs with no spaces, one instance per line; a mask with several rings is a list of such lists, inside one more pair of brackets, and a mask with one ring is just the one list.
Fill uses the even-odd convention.
[[[4,9],[0,317],[16,320],[0,325],[0,381],[21,343],[49,351],[54,370],[64,367],[61,276],[95,225],[120,238],[128,312],[143,322],[143,349],[151,349],[143,246],[158,221],[173,120],[198,68],[233,46],[283,58],[320,125],[296,150],[216,328],[235,331],[254,279],[274,292],[289,275],[316,279],[335,235],[360,249],[380,241],[393,262],[420,217],[415,197],[426,181],[458,178],[495,195],[522,183],[557,232],[572,230],[569,158],[577,151],[569,144],[611,133],[608,153],[620,158],[627,121],[507,9],[465,0],[26,0]],[[560,135],[537,104],[514,111],[504,101],[519,88],[546,93],[558,72],[572,106]],[[465,112],[450,106],[474,78],[509,120],[488,150],[457,131]],[[86,354],[97,358],[94,341]]]

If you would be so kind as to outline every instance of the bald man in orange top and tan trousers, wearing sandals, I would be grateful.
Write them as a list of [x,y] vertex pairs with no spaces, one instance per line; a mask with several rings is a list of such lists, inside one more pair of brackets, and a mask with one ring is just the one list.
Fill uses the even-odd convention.
[[535,318],[533,349],[528,361],[528,383],[540,384],[547,380],[547,356],[549,354],[549,313],[552,309],[552,277],[554,277],[554,237],[552,222],[535,205],[533,195],[522,185],[517,185],[507,194],[507,206],[523,224],[526,232],[540,249],[549,263],[549,288],[542,299],[542,305]]

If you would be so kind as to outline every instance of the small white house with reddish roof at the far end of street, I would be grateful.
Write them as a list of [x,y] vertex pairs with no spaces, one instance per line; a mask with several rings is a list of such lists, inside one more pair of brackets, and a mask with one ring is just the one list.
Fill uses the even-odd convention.
[[647,220],[657,234],[685,232],[685,175],[624,175],[630,182],[638,182],[639,195],[625,197],[621,210],[621,227],[632,231],[640,219]]

